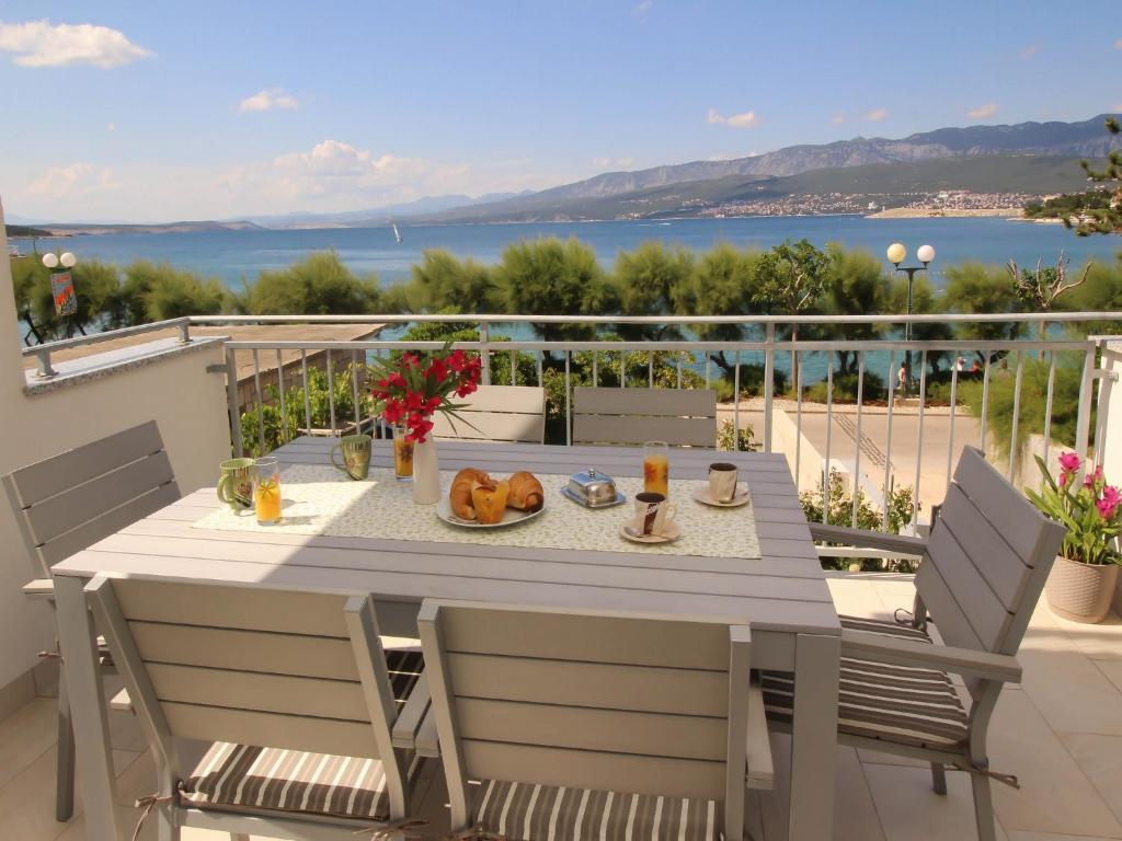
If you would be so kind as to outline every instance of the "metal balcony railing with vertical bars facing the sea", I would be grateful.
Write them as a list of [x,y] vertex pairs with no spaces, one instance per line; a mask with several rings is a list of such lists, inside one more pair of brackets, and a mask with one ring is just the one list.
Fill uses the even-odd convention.
[[[775,452],[781,449],[776,444],[775,415],[780,408],[784,412],[793,413],[794,434],[793,442],[788,440],[782,447],[788,454],[792,464],[792,472],[799,483],[800,491],[813,490],[808,487],[806,477],[815,477],[821,483],[824,495],[822,512],[824,518],[829,507],[830,482],[828,474],[830,465],[838,459],[850,460],[849,466],[853,477],[853,501],[852,519],[857,523],[859,495],[856,489],[861,486],[862,475],[868,477],[868,481],[882,480],[881,491],[882,516],[888,520],[889,516],[889,493],[888,489],[901,484],[910,484],[914,499],[922,497],[938,499],[941,491],[949,482],[953,463],[956,455],[956,447],[963,444],[974,444],[988,452],[990,458],[1006,472],[1012,479],[1019,453],[1022,447],[1024,431],[1019,428],[1022,397],[1024,391],[1024,370],[1027,363],[1039,366],[1047,364],[1047,388],[1043,397],[1043,428],[1042,446],[1043,456],[1047,460],[1048,449],[1051,446],[1051,433],[1054,418],[1056,416],[1057,400],[1057,371],[1058,364],[1063,360],[1064,368],[1074,371],[1078,377],[1078,394],[1076,404],[1076,420],[1074,425],[1074,440],[1070,445],[1078,452],[1093,450],[1101,454],[1106,444],[1105,441],[1105,418],[1103,413],[1098,415],[1098,423],[1093,423],[1094,403],[1096,389],[1100,391],[1098,399],[1109,395],[1116,375],[1104,364],[1105,360],[1119,358],[1116,351],[1111,351],[1105,346],[1103,338],[1088,336],[1085,339],[1046,339],[1046,340],[1001,340],[1001,341],[978,341],[972,339],[951,339],[940,341],[911,341],[904,342],[900,339],[881,339],[871,341],[854,341],[846,339],[790,341],[781,339],[788,329],[799,326],[806,334],[807,329],[813,325],[829,325],[835,331],[844,332],[847,327],[866,325],[891,325],[900,329],[904,323],[913,325],[922,324],[949,324],[954,327],[977,326],[981,324],[1002,324],[1010,322],[1039,325],[1046,323],[1052,325],[1052,332],[1057,332],[1059,325],[1077,323],[1086,329],[1086,325],[1095,323],[1122,321],[1122,313],[1046,313],[1046,314],[995,314],[995,315],[872,315],[872,316],[803,316],[791,318],[790,316],[541,316],[541,315],[364,315],[364,316],[199,316],[188,318],[177,318],[171,322],[135,327],[129,331],[113,331],[99,335],[72,339],[65,342],[54,342],[49,344],[29,348],[25,350],[25,355],[37,355],[39,358],[39,376],[50,376],[50,352],[57,349],[85,344],[96,341],[104,341],[121,336],[123,334],[139,333],[149,330],[160,330],[175,326],[181,331],[181,340],[190,341],[190,327],[194,324],[226,325],[226,324],[324,324],[324,323],[347,323],[347,324],[379,324],[405,326],[419,323],[468,323],[476,326],[479,340],[473,342],[459,342],[456,346],[465,350],[478,351],[488,360],[484,366],[484,382],[490,383],[493,377],[491,363],[500,357],[506,355],[511,360],[508,381],[509,385],[537,385],[545,386],[546,370],[551,371],[551,377],[558,380],[562,389],[562,398],[555,405],[557,414],[560,415],[557,422],[563,427],[563,443],[571,444],[572,428],[572,389],[576,379],[576,364],[579,360],[585,366],[585,373],[590,375],[591,385],[604,385],[604,380],[610,380],[613,385],[620,388],[637,386],[654,386],[656,372],[662,376],[659,381],[663,387],[683,388],[689,386],[689,380],[703,382],[705,387],[714,383],[718,373],[714,367],[714,358],[720,354],[725,368],[732,369],[730,386],[732,394],[742,396],[742,363],[756,364],[762,367],[763,383],[762,392],[749,404],[742,399],[733,399],[732,404],[723,409],[724,414],[732,422],[733,441],[739,441],[741,431],[745,428],[746,413],[755,415],[762,414],[762,422],[758,423],[761,434],[761,449],[764,452]],[[540,341],[521,340],[496,341],[495,331],[500,325],[594,325],[607,333],[610,327],[627,325],[654,325],[675,326],[684,331],[696,329],[695,325],[735,325],[743,327],[743,333],[758,336],[751,341]],[[518,332],[515,327],[514,332]],[[522,332],[528,332],[525,326]],[[287,414],[287,400],[294,395],[293,388],[303,392],[303,429],[316,429],[320,434],[340,434],[342,431],[353,431],[368,427],[373,422],[362,417],[360,410],[360,392],[366,390],[364,381],[364,364],[371,357],[384,357],[396,351],[405,350],[434,350],[442,346],[440,342],[417,342],[404,340],[375,340],[375,341],[229,341],[226,343],[227,361],[227,397],[228,410],[230,415],[230,427],[232,433],[233,450],[241,455],[246,451],[246,443],[242,440],[242,414],[248,412],[256,415],[258,442],[266,441],[265,434],[265,406],[269,403],[279,404],[282,416]],[[856,375],[855,399],[846,406],[842,406],[837,399],[837,388],[835,382],[835,366],[833,357],[846,353],[855,359],[853,367]],[[252,388],[251,399],[245,399],[238,387],[239,360],[245,361],[245,354],[252,359]],[[313,412],[311,407],[309,387],[309,357],[310,354],[322,354],[325,362],[328,379],[328,413],[323,422],[313,423]],[[578,357],[577,354],[580,354]],[[914,360],[912,371],[916,372],[916,394],[909,396],[907,407],[900,401],[901,395],[896,388],[898,366],[910,354]],[[518,379],[518,361],[526,360],[527,355],[533,360],[532,373]],[[287,361],[285,358],[287,357]],[[942,406],[938,409],[939,415],[939,441],[936,446],[940,449],[938,460],[945,468],[932,471],[930,465],[932,459],[932,443],[927,435],[932,422],[935,409],[931,406],[931,373],[929,362],[948,357],[950,362],[940,371],[940,380],[946,380],[946,387],[940,391]],[[965,371],[954,362],[958,357],[978,360],[980,370]],[[276,360],[275,375],[270,376],[277,387],[276,396],[270,398],[268,389],[263,387],[261,364],[272,371],[273,359]],[[646,359],[646,377],[635,376],[635,360]],[[825,358],[825,364],[822,360]],[[669,377],[668,377],[668,362]],[[297,368],[298,361],[298,368]],[[627,366],[625,368],[625,364]],[[641,364],[641,363],[640,363]],[[496,366],[497,368],[497,366]],[[813,372],[809,369],[820,369],[822,378],[816,380]],[[286,370],[288,371],[286,373]],[[629,370],[629,378],[628,378]],[[794,389],[793,398],[780,406],[776,397],[774,382],[776,370],[792,370],[797,377],[794,381],[798,388]],[[997,372],[1001,371],[999,375]],[[693,376],[687,377],[687,372]],[[623,376],[620,376],[623,373]],[[720,371],[724,373],[724,370]],[[879,387],[880,396],[883,399],[870,397],[867,390],[871,375],[881,378],[883,386]],[[335,379],[340,376],[351,379],[351,409],[350,417],[343,417],[342,410],[337,407]],[[1002,429],[999,436],[1002,441],[1008,441],[1008,445],[1002,452],[995,452],[991,443],[991,435],[994,432],[993,415],[993,385],[997,376],[1004,380],[1012,377],[1012,409],[1005,412],[1003,417],[1011,418],[1010,428]],[[960,412],[962,389],[960,386],[966,379],[981,382],[981,407],[975,406],[973,416],[976,418],[977,428],[969,432],[956,428],[965,423]],[[286,381],[287,380],[287,381]],[[825,382],[825,408],[822,401],[811,405],[806,398],[809,386],[808,382]],[[503,385],[505,385],[504,382]],[[496,381],[496,385],[499,385]],[[941,383],[940,383],[941,385]],[[821,388],[819,387],[819,391]],[[1002,399],[1008,399],[1008,388],[1002,389]],[[977,398],[975,398],[976,401]],[[1032,398],[1036,399],[1036,398]],[[1070,396],[1059,398],[1068,403],[1063,408],[1069,409]],[[874,405],[875,404],[875,405]],[[784,408],[785,407],[785,408]],[[1008,409],[1008,407],[1006,407]],[[825,412],[825,442],[818,455],[821,464],[813,464],[811,470],[803,470],[803,460],[808,458],[803,452],[804,435],[808,415],[820,415]],[[942,420],[944,412],[947,418]],[[907,413],[909,423],[907,429],[900,428],[900,417]],[[872,416],[876,416],[877,437],[883,441],[883,446],[879,442],[873,442],[866,432],[866,424]],[[883,418],[881,417],[883,416]],[[883,432],[881,431],[883,427]],[[837,437],[844,435],[852,438],[849,443],[838,443]],[[907,435],[907,438],[901,436]],[[287,426],[282,424],[280,442],[288,437]],[[561,435],[555,443],[562,443]],[[904,445],[904,446],[902,446]],[[793,449],[793,452],[792,452]],[[907,450],[913,452],[914,461],[910,464],[894,463],[893,452]],[[923,469],[925,461],[928,469]],[[883,462],[883,463],[881,463]],[[817,483],[817,482],[816,482]],[[866,483],[867,487],[867,483]],[[875,496],[875,495],[874,495]],[[919,506],[916,506],[912,515],[912,526],[919,521]]]

